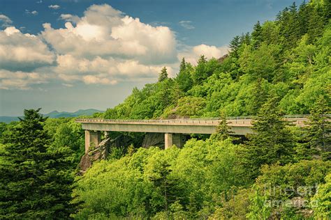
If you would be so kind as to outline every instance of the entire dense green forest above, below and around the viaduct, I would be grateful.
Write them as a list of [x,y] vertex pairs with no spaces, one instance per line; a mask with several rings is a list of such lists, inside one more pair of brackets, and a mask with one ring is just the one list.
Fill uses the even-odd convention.
[[[235,36],[230,52],[134,88],[99,118],[221,117],[183,148],[140,148],[141,135],[86,173],[75,118],[25,110],[0,124],[0,219],[328,219],[331,217],[331,2],[282,10]],[[157,74],[157,73],[156,73]],[[282,120],[310,114],[307,127]],[[225,116],[255,116],[235,137]],[[111,134],[118,136],[118,133]]]

